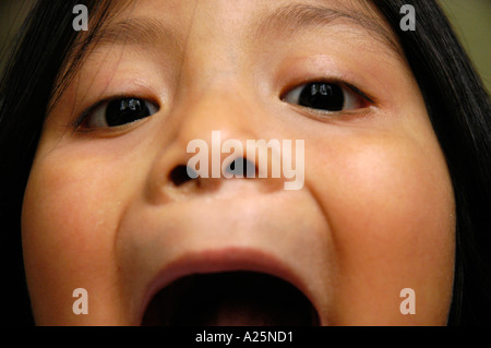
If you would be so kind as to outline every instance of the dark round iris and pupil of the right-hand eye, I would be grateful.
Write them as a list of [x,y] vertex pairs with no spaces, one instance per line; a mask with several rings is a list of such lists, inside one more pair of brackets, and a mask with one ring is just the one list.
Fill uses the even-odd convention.
[[299,104],[313,109],[340,111],[345,106],[342,87],[328,83],[309,83],[300,93]]

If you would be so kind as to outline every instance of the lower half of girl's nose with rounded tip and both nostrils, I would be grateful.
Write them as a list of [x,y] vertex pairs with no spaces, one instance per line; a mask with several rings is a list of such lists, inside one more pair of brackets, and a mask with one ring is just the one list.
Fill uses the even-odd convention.
[[169,110],[172,140],[159,148],[151,168],[149,200],[161,203],[212,194],[237,180],[248,180],[249,189],[280,190],[283,179],[272,176],[280,149],[268,147],[268,140],[256,142],[263,111],[252,98],[226,87],[192,96]]

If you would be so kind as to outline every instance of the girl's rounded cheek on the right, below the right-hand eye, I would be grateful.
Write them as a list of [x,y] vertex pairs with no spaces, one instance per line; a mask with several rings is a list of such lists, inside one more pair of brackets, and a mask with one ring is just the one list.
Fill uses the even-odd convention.
[[[455,221],[440,151],[395,139],[352,145],[333,148],[320,170],[328,175],[313,179],[336,251],[334,316],[444,324]],[[400,314],[404,288],[415,290],[419,315]]]

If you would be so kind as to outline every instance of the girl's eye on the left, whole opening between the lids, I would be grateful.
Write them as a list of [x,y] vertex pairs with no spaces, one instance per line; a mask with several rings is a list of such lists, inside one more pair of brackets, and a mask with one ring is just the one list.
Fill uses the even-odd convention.
[[96,105],[85,113],[83,128],[111,128],[144,119],[158,111],[154,104],[139,98],[118,98]]

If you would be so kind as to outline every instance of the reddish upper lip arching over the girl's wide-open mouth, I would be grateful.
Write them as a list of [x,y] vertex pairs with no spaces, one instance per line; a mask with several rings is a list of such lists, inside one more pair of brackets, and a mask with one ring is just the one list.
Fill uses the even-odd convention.
[[236,247],[190,253],[163,267],[146,287],[139,313],[139,323],[141,323],[152,298],[172,281],[193,274],[232,271],[259,272],[286,280],[297,287],[320,313],[316,296],[309,290],[307,279],[288,262],[258,249]]

